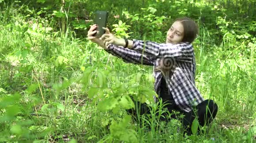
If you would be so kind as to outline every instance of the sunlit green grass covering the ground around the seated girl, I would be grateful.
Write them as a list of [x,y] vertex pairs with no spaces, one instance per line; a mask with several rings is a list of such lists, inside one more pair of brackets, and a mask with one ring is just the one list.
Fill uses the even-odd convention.
[[[4,20],[7,15],[0,15],[3,20],[0,22],[0,141],[48,142],[73,138],[81,143],[120,142],[122,134],[126,134],[123,137],[131,142],[149,143],[255,141],[255,53],[251,52],[246,55],[250,58],[244,58],[239,52],[226,50],[228,47],[224,45],[203,44],[211,41],[211,36],[207,29],[201,28],[200,37],[194,43],[196,86],[204,98],[216,101],[219,111],[212,125],[203,130],[205,132],[183,137],[177,132],[180,126],[177,120],[163,125],[157,118],[141,117],[143,126],[140,127],[124,118],[124,109],[116,114],[112,108],[109,111],[98,109],[100,101],[105,104],[112,97],[101,100],[88,97],[89,88],[99,82],[100,74],[107,76],[104,83],[112,89],[102,94],[105,97],[118,99],[121,87],[124,93],[135,91],[134,83],[139,83],[139,89],[147,87],[153,90],[153,82],[146,77],[139,82],[132,80],[138,73],[151,75],[152,67],[124,63],[86,39],[76,39],[69,29],[65,36],[53,31],[46,33],[40,26],[33,31],[33,24],[24,20],[17,11],[10,13],[13,15],[8,25]],[[32,31],[27,32],[27,28]],[[91,68],[95,68],[91,78],[85,77],[83,71]],[[76,82],[82,75],[84,79]],[[15,93],[21,95],[17,101],[13,96]],[[10,102],[6,102],[7,97]],[[13,107],[11,109],[17,113],[11,114],[8,107]],[[7,113],[10,118],[2,118]],[[227,126],[226,123],[249,125],[232,125],[229,129],[220,125]],[[148,124],[157,128],[148,131],[145,127]]]

